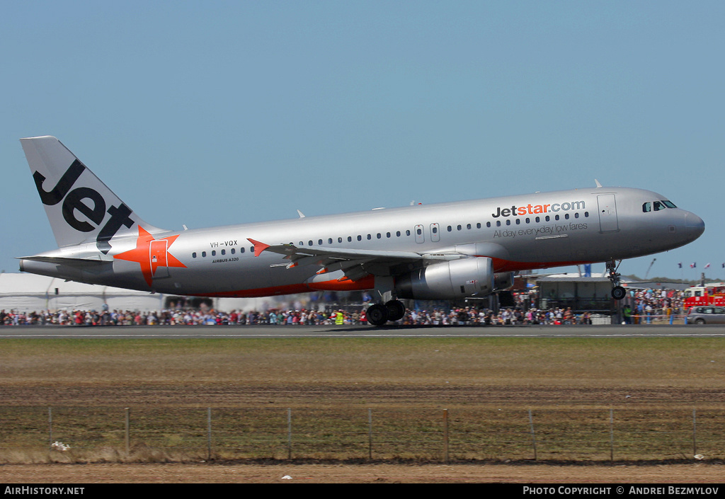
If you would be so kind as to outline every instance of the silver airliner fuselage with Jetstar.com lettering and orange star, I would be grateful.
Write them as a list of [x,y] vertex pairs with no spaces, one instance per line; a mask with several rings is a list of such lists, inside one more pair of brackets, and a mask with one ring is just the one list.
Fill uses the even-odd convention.
[[[371,265],[368,277],[326,281],[315,265],[286,265],[288,260],[273,252],[255,256],[249,239],[298,249],[414,252],[421,255],[421,265],[427,265],[426,255],[489,257],[495,272],[523,271],[640,257],[697,239],[704,230],[697,215],[676,207],[644,208],[645,203],[666,199],[642,189],[597,187],[181,232],[154,231],[144,239],[149,263],[139,261],[146,255],[139,231],[111,239],[111,249],[101,255],[101,263],[78,263],[98,252],[95,242],[89,240],[36,255],[40,259],[23,259],[20,269],[181,295],[258,297],[318,289],[371,289],[376,279],[398,279],[405,273],[405,265]],[[133,253],[136,249],[138,255]],[[117,257],[130,254],[136,260]],[[54,260],[56,256],[59,259]],[[74,257],[78,260],[63,263],[63,258]],[[364,263],[360,266],[365,269]]]

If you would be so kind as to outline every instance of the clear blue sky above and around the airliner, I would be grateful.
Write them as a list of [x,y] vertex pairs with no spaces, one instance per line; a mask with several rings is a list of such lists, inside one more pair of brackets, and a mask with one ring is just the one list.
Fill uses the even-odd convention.
[[720,278],[723,25],[721,1],[4,2],[0,270],[55,247],[18,141],[54,135],[164,228],[642,187],[705,234],[620,271]]

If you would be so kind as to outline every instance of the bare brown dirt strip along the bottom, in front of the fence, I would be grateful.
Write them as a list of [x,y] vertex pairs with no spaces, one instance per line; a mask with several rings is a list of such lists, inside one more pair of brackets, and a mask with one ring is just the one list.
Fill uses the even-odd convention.
[[721,483],[722,464],[38,464],[0,466],[15,484],[101,483]]

